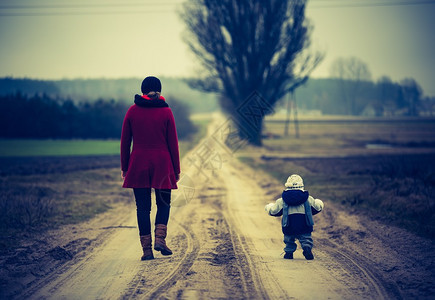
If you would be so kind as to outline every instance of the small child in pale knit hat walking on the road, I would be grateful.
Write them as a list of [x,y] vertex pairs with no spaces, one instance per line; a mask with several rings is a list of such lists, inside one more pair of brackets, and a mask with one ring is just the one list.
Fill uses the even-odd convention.
[[313,248],[313,215],[323,209],[323,202],[314,199],[304,191],[304,182],[301,176],[293,174],[285,183],[286,189],[282,192],[282,198],[275,203],[269,203],[265,210],[271,216],[282,216],[282,232],[284,233],[285,254],[284,258],[293,259],[296,251],[296,239],[299,240],[303,249],[302,254],[307,260],[314,259],[311,252]]

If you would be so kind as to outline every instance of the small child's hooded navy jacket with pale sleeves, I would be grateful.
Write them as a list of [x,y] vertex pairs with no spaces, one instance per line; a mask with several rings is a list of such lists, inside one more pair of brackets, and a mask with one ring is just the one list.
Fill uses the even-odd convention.
[[282,232],[285,235],[300,235],[313,231],[312,215],[322,211],[323,202],[314,199],[308,191],[285,190],[282,198],[265,207],[271,216],[282,216],[288,212],[288,217],[283,216]]

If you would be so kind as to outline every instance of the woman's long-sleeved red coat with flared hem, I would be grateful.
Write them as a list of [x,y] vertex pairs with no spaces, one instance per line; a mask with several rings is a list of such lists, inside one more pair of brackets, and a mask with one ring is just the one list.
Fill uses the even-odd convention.
[[149,100],[136,95],[122,125],[121,169],[126,171],[124,188],[177,188],[175,175],[180,174],[177,131],[172,110],[163,97]]

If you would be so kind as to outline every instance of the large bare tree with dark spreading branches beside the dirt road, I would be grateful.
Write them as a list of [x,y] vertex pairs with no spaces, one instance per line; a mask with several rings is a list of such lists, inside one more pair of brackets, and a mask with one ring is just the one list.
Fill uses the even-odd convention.
[[[305,5],[306,0],[188,0],[181,12],[186,42],[204,67],[191,86],[221,93],[222,109],[251,144],[261,145],[270,108],[303,84],[323,58],[307,51]],[[252,95],[256,126],[240,110]]]

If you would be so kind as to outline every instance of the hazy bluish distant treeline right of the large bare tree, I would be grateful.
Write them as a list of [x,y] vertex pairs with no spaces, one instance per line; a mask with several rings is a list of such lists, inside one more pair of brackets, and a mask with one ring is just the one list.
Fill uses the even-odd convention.
[[[299,109],[318,110],[324,115],[421,116],[435,113],[435,97],[425,97],[412,78],[393,82],[342,79],[310,79],[296,89]],[[286,106],[281,101],[281,107]]]

